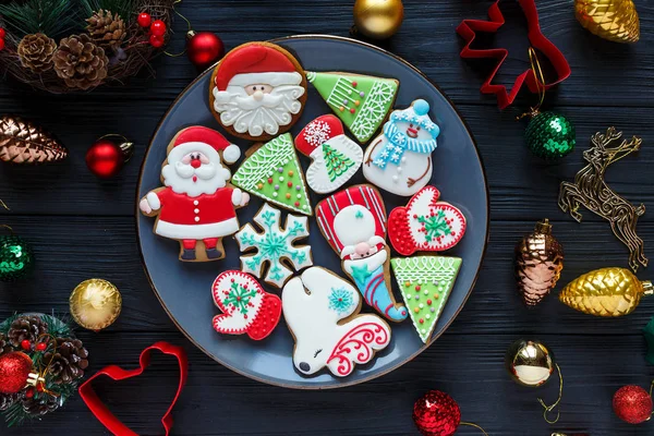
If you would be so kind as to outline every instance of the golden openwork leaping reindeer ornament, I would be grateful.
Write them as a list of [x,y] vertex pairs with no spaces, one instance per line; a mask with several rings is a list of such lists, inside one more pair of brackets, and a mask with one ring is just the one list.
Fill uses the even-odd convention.
[[561,182],[558,204],[562,211],[569,211],[579,222],[582,218],[580,205],[608,220],[614,234],[629,247],[629,266],[635,271],[639,264],[647,266],[643,240],[635,233],[638,217],[645,213],[645,206],[634,207],[604,181],[604,172],[609,165],[641,146],[642,140],[635,136],[611,146],[621,137],[622,132],[616,132],[615,128],[609,128],[606,134],[597,132],[591,137],[592,146],[583,153],[589,165],[577,173],[574,183]]

